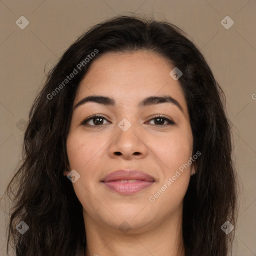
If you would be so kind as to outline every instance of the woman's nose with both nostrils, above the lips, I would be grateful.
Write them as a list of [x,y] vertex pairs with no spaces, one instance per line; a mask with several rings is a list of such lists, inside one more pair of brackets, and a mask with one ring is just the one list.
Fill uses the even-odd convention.
[[143,131],[131,125],[126,131],[118,125],[115,127],[115,136],[108,147],[109,155],[112,158],[123,159],[143,158],[148,153],[148,148],[143,139]]

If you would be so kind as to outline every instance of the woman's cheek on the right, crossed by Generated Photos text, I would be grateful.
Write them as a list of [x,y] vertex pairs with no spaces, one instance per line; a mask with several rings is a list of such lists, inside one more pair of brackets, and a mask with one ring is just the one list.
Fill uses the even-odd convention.
[[189,129],[177,129],[154,141],[158,141],[154,148],[162,162],[162,178],[149,201],[155,207],[171,211],[182,202],[189,183],[191,165],[187,162],[192,154],[192,133]]

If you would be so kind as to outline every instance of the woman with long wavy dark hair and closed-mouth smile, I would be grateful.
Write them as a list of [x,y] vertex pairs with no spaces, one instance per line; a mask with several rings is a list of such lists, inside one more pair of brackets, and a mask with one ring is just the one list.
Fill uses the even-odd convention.
[[222,95],[173,24],[117,16],[82,34],[32,105],[7,187],[16,255],[228,255]]

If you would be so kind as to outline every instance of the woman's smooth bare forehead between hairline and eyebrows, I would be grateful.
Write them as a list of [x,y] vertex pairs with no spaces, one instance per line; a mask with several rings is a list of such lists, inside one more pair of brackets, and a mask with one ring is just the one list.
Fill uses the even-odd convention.
[[77,89],[74,104],[88,95],[105,95],[117,105],[136,103],[146,96],[170,95],[183,109],[186,102],[167,59],[151,51],[104,53],[95,59]]

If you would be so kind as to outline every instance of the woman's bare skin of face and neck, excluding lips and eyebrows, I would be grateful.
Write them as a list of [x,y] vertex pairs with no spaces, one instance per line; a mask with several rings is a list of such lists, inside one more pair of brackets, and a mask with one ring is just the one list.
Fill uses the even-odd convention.
[[[194,165],[154,202],[148,199],[192,156],[187,105],[179,81],[169,75],[173,67],[151,51],[105,53],[92,62],[78,87],[73,105],[94,94],[116,101],[115,106],[86,102],[75,108],[66,141],[69,165],[63,174],[72,169],[80,174],[72,184],[83,207],[86,256],[184,255],[182,206]],[[172,103],[137,107],[144,97],[164,95],[176,99],[183,112]],[[102,115],[102,124],[89,120],[82,125],[92,114]],[[158,124],[156,114],[175,124]],[[126,131],[117,125],[123,118],[131,124]],[[144,171],[155,182],[131,195],[118,194],[100,182],[123,168]],[[130,228],[126,233],[118,228],[123,221]]]

